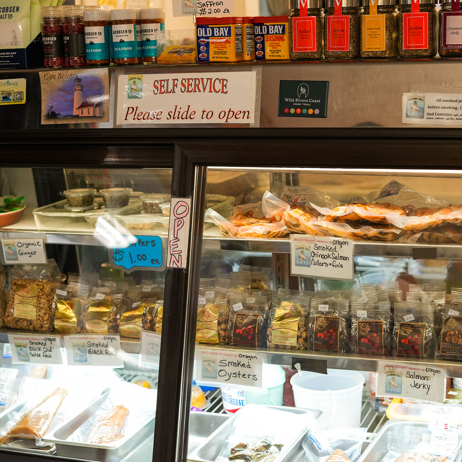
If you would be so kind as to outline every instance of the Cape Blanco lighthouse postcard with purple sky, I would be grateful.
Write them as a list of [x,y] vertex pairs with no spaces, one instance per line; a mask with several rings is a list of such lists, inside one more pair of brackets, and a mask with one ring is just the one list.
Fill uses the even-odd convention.
[[69,69],[40,73],[42,124],[109,121],[107,69]]

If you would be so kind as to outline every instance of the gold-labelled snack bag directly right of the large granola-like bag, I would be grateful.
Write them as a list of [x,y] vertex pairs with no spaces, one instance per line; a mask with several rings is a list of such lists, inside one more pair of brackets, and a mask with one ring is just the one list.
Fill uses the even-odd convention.
[[56,285],[54,327],[56,332],[77,334],[80,308],[88,297],[88,286]]

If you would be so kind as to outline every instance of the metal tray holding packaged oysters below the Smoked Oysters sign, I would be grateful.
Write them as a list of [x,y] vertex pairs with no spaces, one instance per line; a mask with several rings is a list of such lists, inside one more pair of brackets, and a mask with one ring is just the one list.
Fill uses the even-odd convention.
[[[318,419],[322,414],[321,411],[317,409],[298,409],[296,407],[287,407],[287,406],[265,406],[271,407],[273,409],[280,409],[281,411],[292,412],[294,414],[311,414],[314,419]],[[214,462],[219,452],[228,439],[231,428],[234,424],[234,421],[237,418],[237,414],[234,414],[230,419],[221,425],[215,432],[213,432],[202,444],[200,444],[191,454],[188,456],[188,461],[190,462]],[[278,460],[278,462],[289,462],[292,458],[298,453],[302,447],[303,439],[307,433],[308,429],[304,432],[298,433],[294,442],[290,445],[285,455]]]

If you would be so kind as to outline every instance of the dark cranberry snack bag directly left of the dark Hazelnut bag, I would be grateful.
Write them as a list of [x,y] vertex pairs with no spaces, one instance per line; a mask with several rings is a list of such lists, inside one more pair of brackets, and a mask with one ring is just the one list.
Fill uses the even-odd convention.
[[395,302],[394,356],[404,358],[434,357],[433,311],[431,303]]

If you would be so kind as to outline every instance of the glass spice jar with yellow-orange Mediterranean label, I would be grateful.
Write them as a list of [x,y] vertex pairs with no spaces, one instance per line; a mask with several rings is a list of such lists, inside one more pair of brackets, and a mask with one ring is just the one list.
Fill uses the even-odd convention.
[[397,58],[397,0],[363,0],[361,13],[361,58]]

